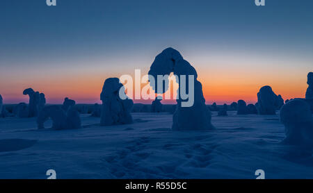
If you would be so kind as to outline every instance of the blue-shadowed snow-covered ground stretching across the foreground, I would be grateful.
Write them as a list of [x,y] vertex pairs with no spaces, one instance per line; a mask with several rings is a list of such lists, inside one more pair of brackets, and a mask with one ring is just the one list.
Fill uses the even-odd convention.
[[[217,117],[214,131],[171,131],[169,113],[132,113],[134,124],[36,129],[35,118],[0,119],[0,178],[313,178],[312,149],[280,144],[278,115]],[[51,126],[48,121],[46,127]]]

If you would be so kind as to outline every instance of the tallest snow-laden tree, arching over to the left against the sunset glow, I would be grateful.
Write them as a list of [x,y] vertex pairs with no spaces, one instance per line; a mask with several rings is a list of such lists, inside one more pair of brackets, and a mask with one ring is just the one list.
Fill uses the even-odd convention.
[[[150,67],[148,74],[150,78],[153,77],[154,81],[150,80],[150,85],[154,92],[158,94],[163,94],[168,90],[168,84],[163,82],[163,90],[158,89],[157,80],[158,75],[165,76],[170,73],[174,73],[177,76],[176,81],[179,83],[179,88],[177,90],[177,107],[173,115],[173,130],[206,130],[214,128],[211,125],[211,112],[209,108],[205,105],[205,99],[202,93],[202,85],[197,80],[198,74],[195,69],[184,60],[179,51],[168,48],[163,50],[155,59]],[[194,101],[193,105],[190,107],[182,106],[183,100],[179,94],[181,90],[181,75],[186,76],[186,82],[188,83],[188,75],[193,75],[193,87],[194,87]],[[186,88],[188,92],[188,87]]]

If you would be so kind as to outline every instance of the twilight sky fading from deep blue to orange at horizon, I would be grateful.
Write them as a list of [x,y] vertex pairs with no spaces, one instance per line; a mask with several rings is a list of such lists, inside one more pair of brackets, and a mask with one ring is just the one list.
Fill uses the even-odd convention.
[[28,87],[47,103],[99,103],[106,78],[147,74],[167,47],[195,67],[207,103],[255,103],[264,85],[284,99],[305,96],[313,1],[56,1],[1,0],[4,103],[28,101]]

